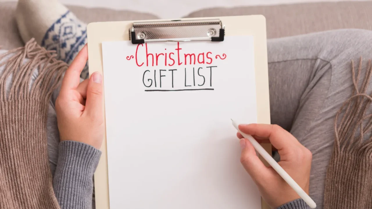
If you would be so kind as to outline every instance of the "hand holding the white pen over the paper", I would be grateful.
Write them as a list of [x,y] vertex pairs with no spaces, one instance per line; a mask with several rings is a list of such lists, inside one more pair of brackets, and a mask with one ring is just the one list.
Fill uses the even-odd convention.
[[[252,135],[259,143],[271,143],[278,149],[279,165],[309,194],[312,154],[297,139],[278,125],[239,125],[239,130]],[[257,184],[261,196],[272,208],[300,198],[295,190],[271,167],[257,157],[253,145],[238,132],[241,145],[241,164]]]

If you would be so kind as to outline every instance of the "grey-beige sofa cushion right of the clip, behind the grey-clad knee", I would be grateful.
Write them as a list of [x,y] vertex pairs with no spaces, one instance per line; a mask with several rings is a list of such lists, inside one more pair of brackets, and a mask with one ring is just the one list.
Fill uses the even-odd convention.
[[[372,29],[372,1],[346,1],[203,9],[185,17],[263,15],[267,38],[332,29]],[[244,23],[242,24],[244,27]]]

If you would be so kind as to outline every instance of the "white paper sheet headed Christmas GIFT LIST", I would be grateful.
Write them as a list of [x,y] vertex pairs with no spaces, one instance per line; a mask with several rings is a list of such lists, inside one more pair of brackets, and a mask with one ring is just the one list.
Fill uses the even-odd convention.
[[102,43],[110,209],[261,208],[230,120],[257,121],[253,45]]

